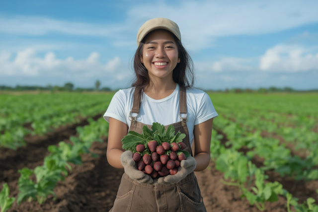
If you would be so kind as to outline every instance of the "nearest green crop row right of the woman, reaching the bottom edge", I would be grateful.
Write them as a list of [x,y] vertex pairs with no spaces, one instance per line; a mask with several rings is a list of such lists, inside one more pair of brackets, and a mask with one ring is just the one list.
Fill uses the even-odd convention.
[[[215,122],[215,123],[219,123]],[[220,130],[219,127],[231,126],[214,125],[214,129]],[[268,178],[264,174],[262,168],[257,168],[252,164],[251,157],[243,155],[234,146],[226,148],[221,144],[222,135],[218,135],[217,131],[212,132],[211,139],[211,158],[216,159],[216,169],[224,173],[225,180],[221,182],[226,185],[238,186],[241,191],[241,198],[246,198],[250,205],[255,205],[260,211],[265,210],[265,202],[278,201],[278,195],[282,195],[287,199],[288,212],[292,212],[291,206],[296,212],[318,212],[318,206],[314,204],[313,198],[308,198],[303,204],[299,204],[298,199],[293,197],[287,190],[283,189],[279,182],[265,182]],[[227,134],[231,144],[238,141],[237,134]],[[228,143],[230,144],[230,143]],[[228,181],[230,180],[230,181]],[[254,185],[254,186],[253,186]]]

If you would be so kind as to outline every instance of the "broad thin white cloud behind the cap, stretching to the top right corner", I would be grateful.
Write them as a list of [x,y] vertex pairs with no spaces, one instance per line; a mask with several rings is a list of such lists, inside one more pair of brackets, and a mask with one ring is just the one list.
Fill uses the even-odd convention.
[[128,15],[141,24],[155,17],[173,20],[183,43],[196,50],[213,46],[216,37],[273,33],[318,22],[316,8],[316,0],[183,1],[138,5]]

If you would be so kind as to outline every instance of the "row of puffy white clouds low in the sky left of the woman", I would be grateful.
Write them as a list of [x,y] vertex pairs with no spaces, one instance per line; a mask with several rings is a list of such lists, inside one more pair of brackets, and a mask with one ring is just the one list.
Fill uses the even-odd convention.
[[18,52],[15,59],[11,61],[10,53],[0,52],[0,75],[74,75],[89,77],[116,71],[120,66],[119,57],[108,61],[107,64],[99,63],[99,57],[97,52],[92,52],[84,60],[74,60],[72,57],[60,60],[56,58],[53,52],[48,52],[44,58],[40,58],[33,49],[26,49]]

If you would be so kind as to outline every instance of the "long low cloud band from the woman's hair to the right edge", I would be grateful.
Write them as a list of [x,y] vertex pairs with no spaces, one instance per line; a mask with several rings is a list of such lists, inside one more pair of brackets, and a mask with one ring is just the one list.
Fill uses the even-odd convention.
[[224,71],[318,71],[318,46],[277,45],[259,57],[224,57],[218,60],[195,62],[195,70],[203,72]]

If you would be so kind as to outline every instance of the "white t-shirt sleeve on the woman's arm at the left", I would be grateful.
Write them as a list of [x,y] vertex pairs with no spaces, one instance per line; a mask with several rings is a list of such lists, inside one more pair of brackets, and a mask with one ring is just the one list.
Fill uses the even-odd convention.
[[124,91],[117,91],[109,103],[109,106],[104,114],[104,119],[109,123],[109,117],[111,117],[127,124],[125,116],[125,103],[126,95]]

